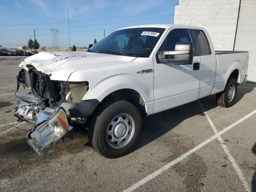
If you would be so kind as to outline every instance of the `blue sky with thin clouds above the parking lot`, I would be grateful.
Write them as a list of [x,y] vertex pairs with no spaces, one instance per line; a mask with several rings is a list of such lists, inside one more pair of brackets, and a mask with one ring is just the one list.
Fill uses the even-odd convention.
[[40,47],[52,47],[52,32],[58,29],[60,48],[88,47],[94,39],[126,26],[173,24],[179,0],[4,0],[0,4],[0,45],[27,46],[28,39]]

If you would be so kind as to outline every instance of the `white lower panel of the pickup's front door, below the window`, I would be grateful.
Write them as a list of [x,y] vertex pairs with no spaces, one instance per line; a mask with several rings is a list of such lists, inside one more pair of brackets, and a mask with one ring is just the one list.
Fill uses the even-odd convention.
[[[199,62],[195,56],[193,63]],[[154,113],[192,102],[198,97],[199,70],[193,64],[154,64]]]

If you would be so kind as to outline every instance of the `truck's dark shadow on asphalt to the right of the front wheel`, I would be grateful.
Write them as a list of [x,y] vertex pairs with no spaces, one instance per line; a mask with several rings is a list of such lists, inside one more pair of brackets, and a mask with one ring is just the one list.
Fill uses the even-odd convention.
[[[252,92],[252,90],[254,90],[253,88],[256,87],[256,84],[243,85],[244,87],[249,86],[250,88],[238,88],[236,102],[239,102],[245,94]],[[206,112],[217,107],[215,95],[202,98],[200,101]],[[198,115],[204,116],[198,101],[194,101],[144,118],[140,142],[134,151],[166,134],[184,120]]]

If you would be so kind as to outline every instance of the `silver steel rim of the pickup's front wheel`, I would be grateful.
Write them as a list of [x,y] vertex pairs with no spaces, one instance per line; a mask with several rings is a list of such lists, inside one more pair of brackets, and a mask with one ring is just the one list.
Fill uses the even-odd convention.
[[119,114],[115,116],[107,128],[108,144],[115,149],[126,146],[134,135],[134,119],[129,114]]

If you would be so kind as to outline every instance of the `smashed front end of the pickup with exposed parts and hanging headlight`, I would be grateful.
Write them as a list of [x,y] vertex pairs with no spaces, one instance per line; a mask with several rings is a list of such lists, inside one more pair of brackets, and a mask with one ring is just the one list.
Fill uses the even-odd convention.
[[[86,122],[97,101],[82,101],[88,82],[50,80],[51,74],[39,72],[32,65],[21,69],[17,75],[15,116],[18,121],[34,124],[27,134],[28,144],[42,157],[56,149],[58,140],[73,126],[70,122]],[[18,92],[23,86],[26,92]]]

